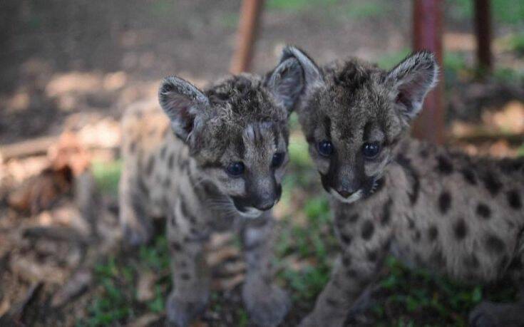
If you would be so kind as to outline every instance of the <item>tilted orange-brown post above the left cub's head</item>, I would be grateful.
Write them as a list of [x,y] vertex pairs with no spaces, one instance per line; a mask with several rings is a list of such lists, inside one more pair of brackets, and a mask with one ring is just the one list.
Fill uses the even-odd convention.
[[264,0],[242,1],[237,31],[237,48],[230,67],[230,72],[233,74],[250,70],[263,4]]

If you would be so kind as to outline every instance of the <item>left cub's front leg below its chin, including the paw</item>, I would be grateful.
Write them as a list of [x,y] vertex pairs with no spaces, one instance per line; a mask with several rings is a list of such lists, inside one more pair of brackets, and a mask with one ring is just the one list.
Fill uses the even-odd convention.
[[242,228],[247,263],[242,299],[251,320],[259,326],[277,326],[291,307],[286,292],[273,283],[273,230],[271,217],[246,222]]

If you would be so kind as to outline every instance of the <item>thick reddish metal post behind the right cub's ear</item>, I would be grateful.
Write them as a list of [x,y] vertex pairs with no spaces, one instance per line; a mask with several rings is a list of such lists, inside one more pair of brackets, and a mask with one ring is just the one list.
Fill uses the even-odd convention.
[[[413,48],[435,53],[442,66],[442,0],[413,0]],[[426,96],[423,110],[413,126],[413,135],[424,140],[444,141],[443,72],[438,85]]]

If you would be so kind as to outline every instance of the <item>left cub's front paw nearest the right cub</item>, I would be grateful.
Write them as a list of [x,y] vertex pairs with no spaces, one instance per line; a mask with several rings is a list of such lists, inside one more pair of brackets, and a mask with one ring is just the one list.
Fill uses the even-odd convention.
[[257,326],[277,326],[291,308],[286,292],[278,286],[248,282],[242,289],[242,299],[253,323]]

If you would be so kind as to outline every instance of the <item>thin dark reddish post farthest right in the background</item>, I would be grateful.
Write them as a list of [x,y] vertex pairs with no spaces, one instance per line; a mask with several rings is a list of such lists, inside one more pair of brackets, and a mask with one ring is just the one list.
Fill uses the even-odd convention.
[[490,73],[493,68],[490,0],[475,0],[475,32],[477,36],[478,71],[481,74]]

